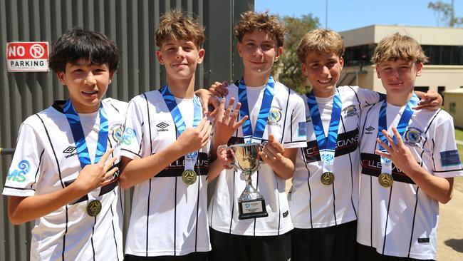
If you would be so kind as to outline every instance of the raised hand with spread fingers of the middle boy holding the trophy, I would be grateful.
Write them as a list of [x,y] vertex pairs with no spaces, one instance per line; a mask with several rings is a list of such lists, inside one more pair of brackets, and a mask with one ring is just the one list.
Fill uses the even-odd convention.
[[236,121],[236,118],[239,116],[241,103],[236,103],[236,107],[233,110],[234,101],[234,98],[230,98],[227,109],[225,109],[225,98],[222,98],[222,101],[220,101],[219,111],[214,118],[214,143],[216,145],[226,144],[236,129],[243,125],[244,121],[248,118],[248,116],[244,116],[240,121]]

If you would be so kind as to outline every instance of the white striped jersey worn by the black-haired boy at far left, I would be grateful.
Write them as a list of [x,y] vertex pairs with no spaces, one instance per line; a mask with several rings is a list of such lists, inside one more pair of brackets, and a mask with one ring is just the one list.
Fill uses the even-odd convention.
[[[16,151],[6,177],[4,195],[30,197],[61,190],[78,177],[80,162],[66,115],[65,101],[29,116],[21,125]],[[127,103],[105,99],[108,148],[119,157]],[[80,113],[90,159],[94,160],[100,130],[96,113]],[[102,203],[96,217],[86,208],[88,196],[36,219],[31,260],[123,260],[123,193],[118,182],[95,191]]]

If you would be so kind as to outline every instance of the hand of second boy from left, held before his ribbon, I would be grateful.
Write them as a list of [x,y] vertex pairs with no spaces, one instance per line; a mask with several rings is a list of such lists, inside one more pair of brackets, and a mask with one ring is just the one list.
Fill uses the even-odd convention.
[[184,154],[191,153],[207,144],[211,136],[211,130],[211,123],[204,117],[196,128],[186,128],[176,143],[184,148]]

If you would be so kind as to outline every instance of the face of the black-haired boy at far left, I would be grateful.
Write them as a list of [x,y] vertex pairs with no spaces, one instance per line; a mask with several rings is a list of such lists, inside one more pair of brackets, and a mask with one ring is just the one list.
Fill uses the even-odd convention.
[[108,90],[114,71],[108,63],[89,64],[84,58],[66,63],[65,71],[56,75],[68,87],[69,96],[78,113],[92,113],[100,108],[100,100]]

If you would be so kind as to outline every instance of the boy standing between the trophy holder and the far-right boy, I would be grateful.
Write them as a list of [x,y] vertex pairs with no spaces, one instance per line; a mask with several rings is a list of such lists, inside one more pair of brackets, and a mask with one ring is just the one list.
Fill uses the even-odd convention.
[[298,153],[288,195],[291,260],[356,260],[360,110],[381,96],[358,86],[337,88],[344,64],[338,33],[310,31],[297,53],[312,91],[303,96],[307,148]]

